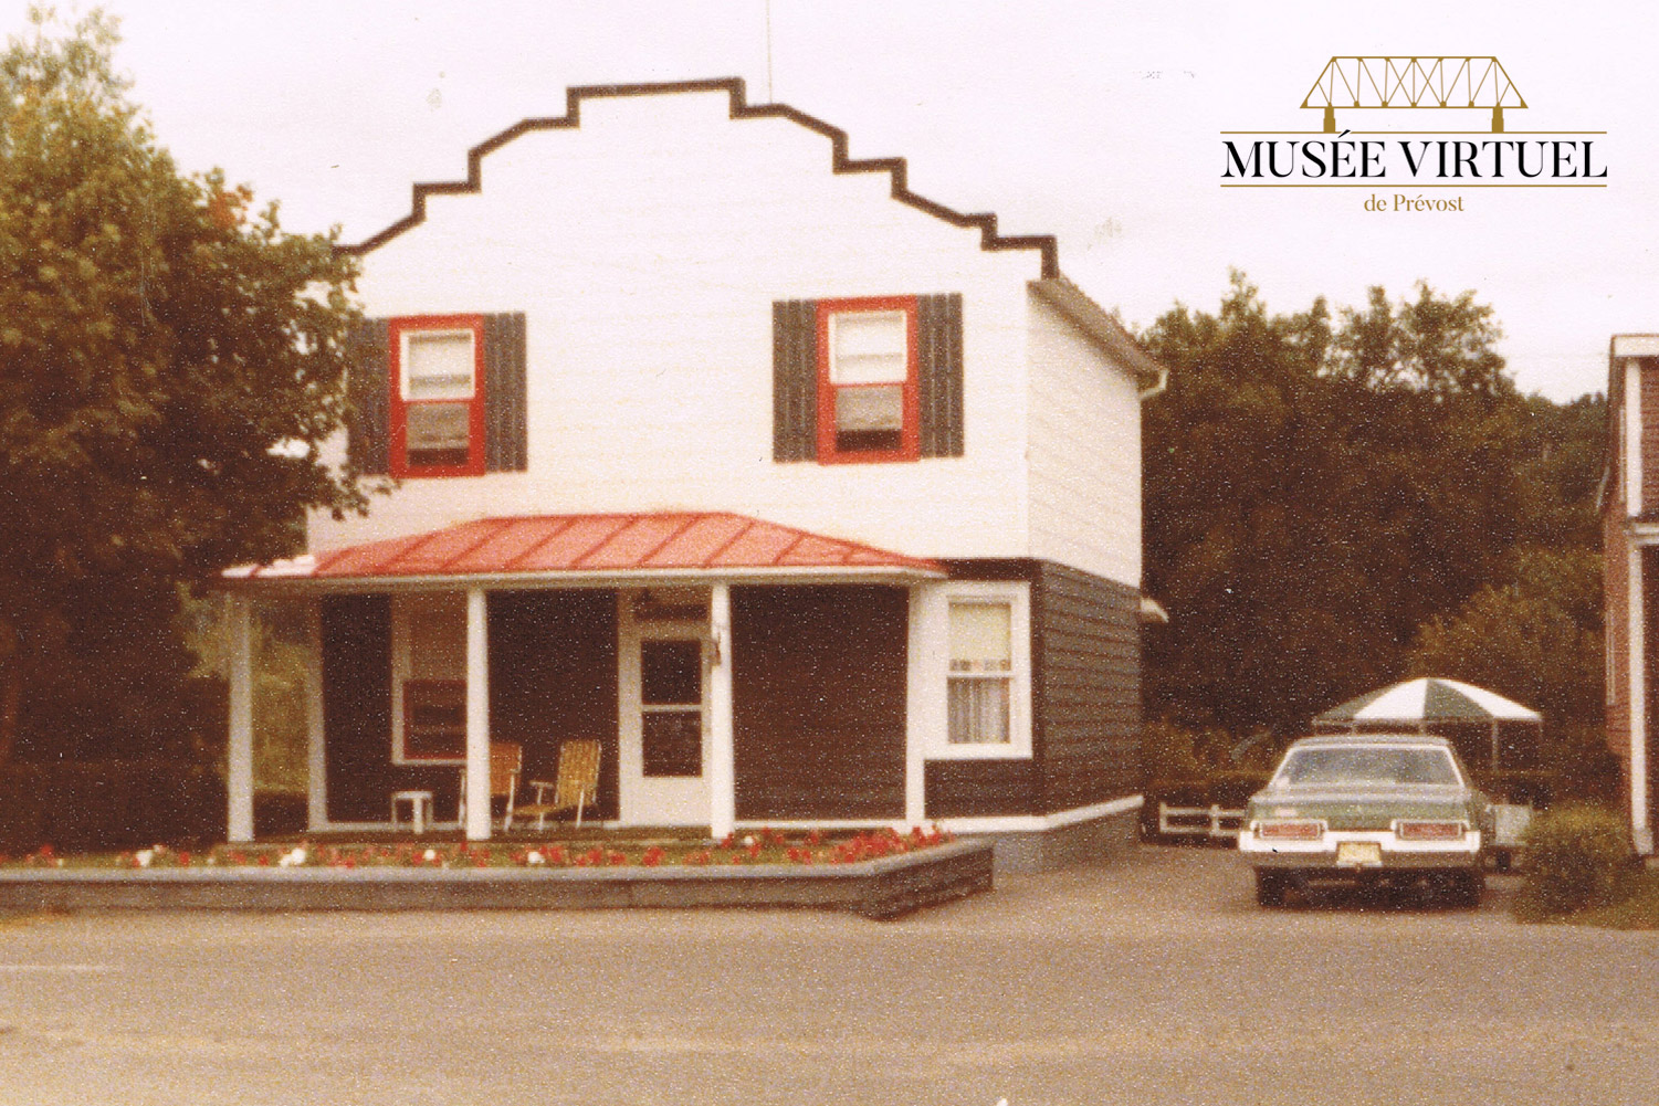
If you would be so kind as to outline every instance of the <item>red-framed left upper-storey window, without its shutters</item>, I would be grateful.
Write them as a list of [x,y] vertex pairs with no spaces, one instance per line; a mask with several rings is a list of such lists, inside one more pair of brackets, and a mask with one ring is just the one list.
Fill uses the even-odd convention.
[[484,320],[395,318],[390,327],[393,476],[484,471]]

